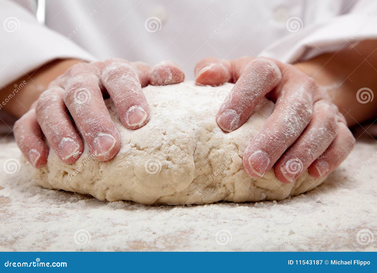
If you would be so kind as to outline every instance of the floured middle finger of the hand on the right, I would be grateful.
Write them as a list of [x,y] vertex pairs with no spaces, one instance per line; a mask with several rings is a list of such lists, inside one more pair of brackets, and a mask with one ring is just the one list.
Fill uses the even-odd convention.
[[245,150],[243,164],[253,177],[264,176],[310,122],[313,87],[296,89],[296,82],[293,79],[284,85],[273,113]]

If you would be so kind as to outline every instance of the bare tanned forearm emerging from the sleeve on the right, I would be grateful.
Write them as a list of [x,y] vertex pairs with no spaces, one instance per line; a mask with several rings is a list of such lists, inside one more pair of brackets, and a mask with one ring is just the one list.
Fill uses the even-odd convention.
[[356,96],[360,88],[369,88],[374,92],[377,90],[375,48],[377,40],[363,41],[294,66],[308,73],[328,90],[348,125],[352,126],[377,117],[377,100],[360,103]]

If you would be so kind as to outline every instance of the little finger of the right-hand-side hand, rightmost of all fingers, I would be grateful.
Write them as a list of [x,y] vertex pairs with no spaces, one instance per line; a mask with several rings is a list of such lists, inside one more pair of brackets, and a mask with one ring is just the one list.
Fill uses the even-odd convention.
[[347,125],[338,122],[338,134],[327,150],[309,167],[309,173],[315,178],[325,177],[334,171],[351,153],[355,138]]

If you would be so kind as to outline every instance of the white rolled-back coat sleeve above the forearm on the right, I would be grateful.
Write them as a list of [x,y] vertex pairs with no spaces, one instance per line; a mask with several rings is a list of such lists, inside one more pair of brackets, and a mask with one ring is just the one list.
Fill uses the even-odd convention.
[[377,1],[359,1],[347,14],[304,26],[269,46],[259,56],[293,63],[336,52],[365,39],[377,39]]

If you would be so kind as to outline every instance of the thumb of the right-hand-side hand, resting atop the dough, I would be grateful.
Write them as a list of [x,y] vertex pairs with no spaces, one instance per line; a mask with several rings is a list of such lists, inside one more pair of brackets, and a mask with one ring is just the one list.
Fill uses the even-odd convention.
[[195,82],[199,85],[220,85],[231,80],[230,62],[208,57],[200,60],[194,69]]

